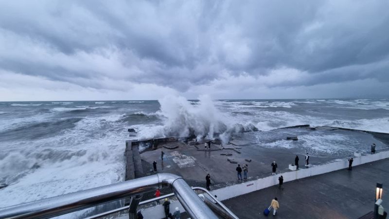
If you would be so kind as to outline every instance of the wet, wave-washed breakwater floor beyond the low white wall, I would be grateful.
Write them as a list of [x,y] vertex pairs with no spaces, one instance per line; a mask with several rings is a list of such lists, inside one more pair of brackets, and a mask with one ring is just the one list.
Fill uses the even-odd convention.
[[[299,136],[299,140],[287,141],[286,136]],[[325,127],[319,127],[316,130],[286,128],[268,132],[248,132],[235,137],[235,139],[242,143],[239,146],[241,153],[232,149],[199,151],[195,146],[185,144],[180,144],[175,149],[159,146],[156,150],[145,151],[141,153],[144,173],[145,175],[155,174],[150,171],[155,160],[157,161],[158,173],[177,174],[182,176],[191,186],[205,187],[205,176],[210,173],[211,189],[216,189],[241,183],[236,176],[237,164],[241,164],[241,166],[248,164],[248,180],[255,180],[271,175],[273,161],[278,164],[277,173],[290,171],[288,165],[294,164],[296,155],[300,157],[300,168],[306,168],[304,167],[306,152],[310,153],[311,165],[320,165],[336,161],[336,159],[352,157],[353,151],[367,154],[372,142],[376,143],[377,152],[389,149],[387,145],[369,133]],[[249,144],[243,144],[245,141]],[[280,146],[280,144],[284,145]],[[161,151],[165,153],[163,161],[160,158]],[[221,155],[223,153],[232,155]],[[233,159],[237,164],[231,164],[227,159]],[[251,162],[245,160],[251,160]]]

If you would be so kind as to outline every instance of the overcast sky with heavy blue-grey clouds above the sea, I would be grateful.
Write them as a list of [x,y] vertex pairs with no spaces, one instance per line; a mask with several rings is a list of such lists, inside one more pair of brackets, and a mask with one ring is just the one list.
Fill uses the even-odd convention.
[[383,98],[388,0],[0,1],[0,101]]

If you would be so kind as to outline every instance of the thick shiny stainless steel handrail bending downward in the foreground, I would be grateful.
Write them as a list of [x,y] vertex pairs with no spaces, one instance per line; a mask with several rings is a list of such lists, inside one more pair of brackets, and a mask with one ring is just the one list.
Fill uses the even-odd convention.
[[0,209],[0,219],[51,218],[110,201],[155,191],[162,187],[172,188],[178,201],[192,219],[217,219],[212,210],[181,177],[167,173],[6,207]]

